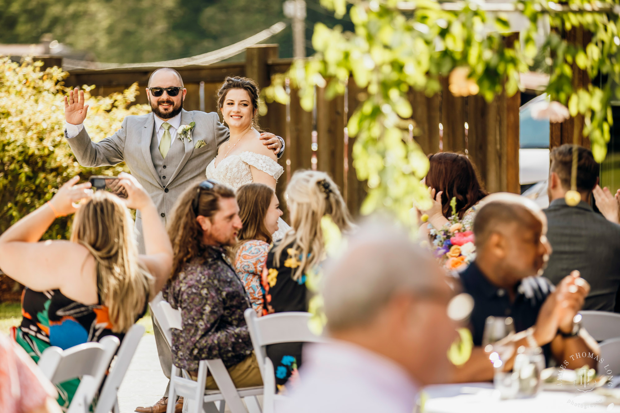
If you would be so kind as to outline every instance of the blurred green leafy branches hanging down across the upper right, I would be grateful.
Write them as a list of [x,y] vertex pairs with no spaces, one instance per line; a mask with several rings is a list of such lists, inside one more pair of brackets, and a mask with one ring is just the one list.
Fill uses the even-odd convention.
[[[552,100],[568,105],[570,115],[585,116],[583,133],[590,138],[596,160],[604,159],[612,121],[612,85],[620,73],[618,11],[614,9],[619,6],[613,2],[506,4],[526,17],[517,40],[508,40],[515,37],[507,37],[511,32],[507,14],[484,11],[484,4],[477,2],[321,0],[321,4],[336,17],[348,14],[355,32],[316,24],[312,37],[316,54],[274,76],[264,93],[268,101],[286,103],[288,78],[299,89],[301,106],[309,111],[316,87],[324,87],[328,98],[343,94],[349,78],[366,89],[367,98],[348,122],[349,135],[356,136],[353,164],[358,179],[368,180],[362,213],[385,207],[407,223],[414,201],[422,207],[430,202],[420,182],[428,161],[409,138],[412,107],[407,92],[415,89],[433,95],[440,91],[441,78],[448,78],[454,95],[479,94],[488,102],[503,92],[514,95],[520,73],[529,71],[539,55],[535,39],[541,19],[551,27],[541,47],[549,48],[553,57],[551,62],[547,59],[546,92]],[[561,36],[576,27],[592,33],[585,48]],[[602,86],[573,90],[573,62],[590,78],[602,75]]]

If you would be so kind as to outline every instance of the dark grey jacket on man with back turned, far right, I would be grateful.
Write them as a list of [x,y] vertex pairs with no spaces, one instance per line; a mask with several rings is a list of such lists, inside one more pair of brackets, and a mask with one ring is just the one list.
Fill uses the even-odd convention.
[[590,205],[575,207],[564,199],[551,202],[544,210],[549,230],[547,239],[553,252],[544,276],[559,283],[572,270],[579,270],[590,283],[590,294],[583,309],[614,311],[620,286],[620,225],[606,220]]

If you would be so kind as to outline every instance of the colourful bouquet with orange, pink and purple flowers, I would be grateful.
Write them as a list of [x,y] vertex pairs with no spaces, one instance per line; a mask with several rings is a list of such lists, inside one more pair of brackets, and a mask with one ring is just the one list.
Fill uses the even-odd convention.
[[[472,223],[474,214],[467,211],[463,220],[456,215],[456,198],[450,201],[452,215],[440,229],[430,228],[430,236],[433,239],[435,257],[448,270],[464,270],[467,265],[476,259],[476,246],[474,245],[474,233]],[[471,211],[475,207],[471,208]],[[430,224],[429,224],[430,225]]]

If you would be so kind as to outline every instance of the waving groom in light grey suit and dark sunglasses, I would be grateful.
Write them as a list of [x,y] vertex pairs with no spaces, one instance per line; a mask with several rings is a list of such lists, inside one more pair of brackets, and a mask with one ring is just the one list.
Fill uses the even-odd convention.
[[[229,138],[229,130],[219,123],[218,114],[183,109],[187,90],[180,74],[171,68],[161,68],[151,74],[146,95],[153,112],[148,115],[128,116],[114,135],[98,143],[84,128],[88,105],[84,105],[84,92],[78,89],[64,98],[66,120],[65,137],[82,166],[115,165],[125,161],[131,174],[151,195],[161,219],[166,222],[177,198],[195,180],[205,178],[206,166],[215,158],[218,147]],[[195,123],[191,141],[180,139],[177,130],[182,125]],[[179,138],[177,138],[179,136]],[[272,133],[262,133],[263,144],[273,149],[278,157],[283,153],[284,141]],[[136,233],[139,251],[144,253],[142,220],[136,211]],[[169,378],[172,357],[161,329],[153,319],[157,353],[164,374]],[[154,406],[138,407],[144,413],[166,411],[167,393]],[[175,410],[180,412],[182,401]]]

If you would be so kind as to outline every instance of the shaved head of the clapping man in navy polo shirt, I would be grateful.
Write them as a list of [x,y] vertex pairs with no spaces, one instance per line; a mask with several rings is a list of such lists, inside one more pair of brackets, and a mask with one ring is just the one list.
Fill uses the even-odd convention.
[[551,254],[546,233],[546,216],[532,200],[514,193],[489,195],[474,218],[476,262],[492,269],[494,275],[487,276],[512,285],[546,264]]

